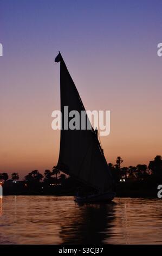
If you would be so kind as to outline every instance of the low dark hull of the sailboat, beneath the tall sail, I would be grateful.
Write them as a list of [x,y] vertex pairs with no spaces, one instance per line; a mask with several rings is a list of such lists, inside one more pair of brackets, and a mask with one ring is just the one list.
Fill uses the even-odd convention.
[[115,192],[106,192],[102,194],[93,194],[86,197],[75,197],[74,201],[77,203],[111,202],[115,195]]

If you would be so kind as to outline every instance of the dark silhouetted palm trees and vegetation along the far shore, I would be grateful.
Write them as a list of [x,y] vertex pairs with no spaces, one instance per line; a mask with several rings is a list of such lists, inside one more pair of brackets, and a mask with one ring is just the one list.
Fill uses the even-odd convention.
[[[157,198],[158,185],[162,184],[162,157],[155,156],[153,161],[137,166],[121,167],[124,162],[120,156],[116,164],[109,163],[109,169],[115,180],[117,197],[147,197]],[[100,172],[99,172],[100,175]],[[80,181],[60,172],[54,166],[52,171],[45,170],[44,175],[38,170],[31,171],[19,181],[18,173],[12,173],[11,179],[7,173],[0,173],[3,195],[55,195],[75,196],[79,187],[87,193],[93,191]]]

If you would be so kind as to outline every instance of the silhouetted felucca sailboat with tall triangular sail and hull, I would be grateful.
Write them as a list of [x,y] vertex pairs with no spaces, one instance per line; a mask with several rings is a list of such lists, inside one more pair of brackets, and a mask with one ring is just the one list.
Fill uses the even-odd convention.
[[[60,62],[62,117],[64,106],[68,106],[69,112],[79,112],[81,117],[81,112],[85,111],[85,107],[60,52],[55,62]],[[87,122],[90,122],[88,117]],[[114,198],[114,181],[93,127],[90,130],[70,130],[64,127],[62,118],[57,168],[95,189],[96,192],[93,194],[78,193],[75,197],[77,202],[108,202]]]

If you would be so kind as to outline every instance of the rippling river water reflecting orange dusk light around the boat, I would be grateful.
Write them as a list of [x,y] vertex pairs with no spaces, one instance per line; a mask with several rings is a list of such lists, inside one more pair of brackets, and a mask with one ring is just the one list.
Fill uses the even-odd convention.
[[73,197],[4,196],[0,243],[162,244],[161,199],[78,205]]

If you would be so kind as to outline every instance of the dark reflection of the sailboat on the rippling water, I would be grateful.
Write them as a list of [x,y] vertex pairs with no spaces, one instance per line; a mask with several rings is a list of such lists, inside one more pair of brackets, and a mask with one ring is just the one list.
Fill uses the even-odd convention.
[[62,223],[60,237],[63,244],[102,244],[114,220],[114,204],[80,205],[68,221]]

